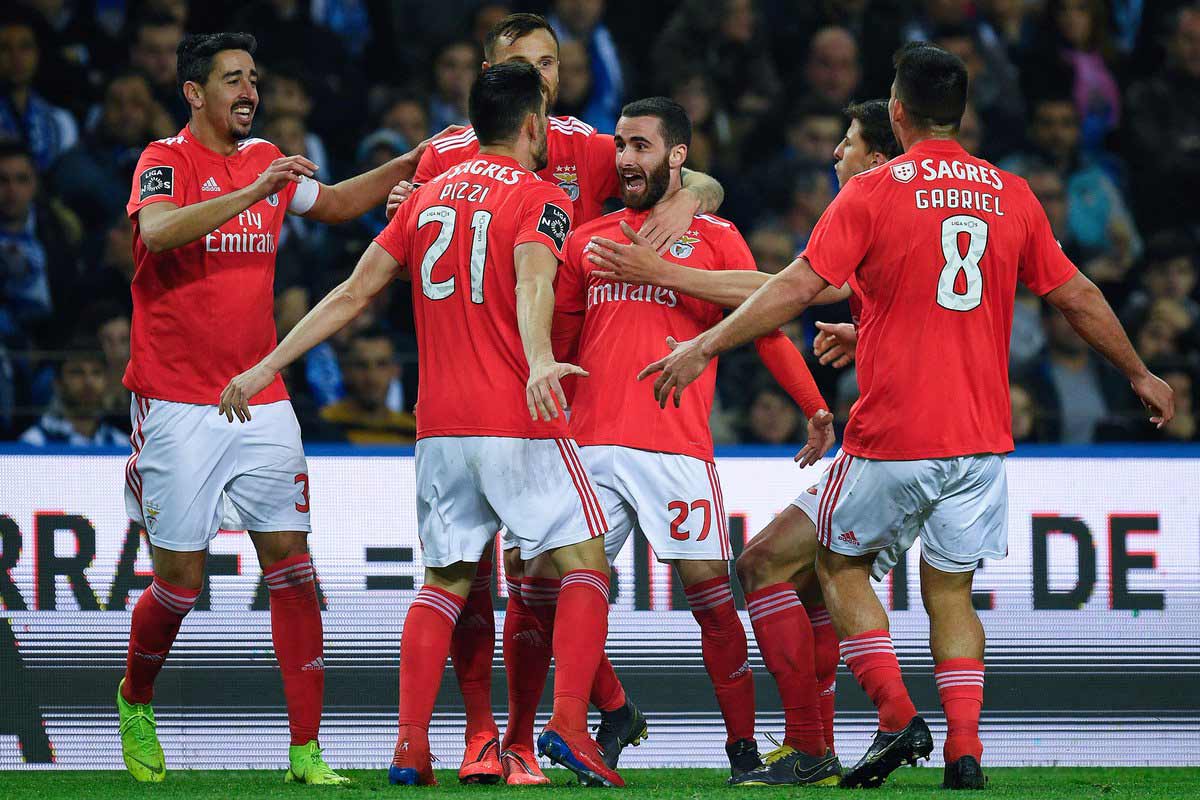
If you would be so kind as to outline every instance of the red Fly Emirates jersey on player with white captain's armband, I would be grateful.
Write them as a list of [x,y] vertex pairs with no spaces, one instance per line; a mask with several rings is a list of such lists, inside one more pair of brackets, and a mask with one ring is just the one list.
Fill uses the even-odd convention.
[[[185,127],[151,142],[133,173],[125,206],[133,221],[133,324],[125,386],[144,397],[216,405],[229,379],[275,349],[275,251],[290,209],[304,213],[318,184],[288,184],[197,241],[151,253],[138,211],[151,203],[193,205],[250,186],[283,154],[245,139],[222,156]],[[287,399],[283,379],[251,403]]]

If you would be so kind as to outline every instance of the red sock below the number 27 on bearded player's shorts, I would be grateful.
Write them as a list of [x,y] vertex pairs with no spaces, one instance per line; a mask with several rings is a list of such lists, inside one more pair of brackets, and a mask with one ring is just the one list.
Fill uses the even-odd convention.
[[701,581],[684,588],[684,594],[700,622],[704,669],[725,718],[726,741],[754,739],[754,675],[730,576]]

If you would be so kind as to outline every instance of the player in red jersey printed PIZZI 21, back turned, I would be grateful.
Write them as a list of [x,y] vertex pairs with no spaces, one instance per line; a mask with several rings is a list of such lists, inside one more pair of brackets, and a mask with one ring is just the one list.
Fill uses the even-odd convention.
[[229,384],[222,407],[246,414],[247,397],[410,270],[425,585],[401,639],[400,733],[389,778],[434,782],[428,724],[450,638],[479,561],[504,525],[522,558],[547,554],[563,576],[558,606],[571,619],[554,630],[554,710],[539,748],[581,782],[623,786],[587,733],[608,626],[608,525],[559,413],[560,379],[587,373],[551,350],[554,275],[571,212],[563,191],[535,174],[546,160],[546,96],[536,70],[503,64],[480,73],[470,119],[481,142],[476,157],[422,185],[350,278]]

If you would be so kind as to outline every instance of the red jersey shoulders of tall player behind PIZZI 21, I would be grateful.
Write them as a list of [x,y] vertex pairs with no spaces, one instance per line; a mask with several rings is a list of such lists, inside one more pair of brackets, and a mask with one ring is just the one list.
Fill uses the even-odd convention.
[[[455,164],[474,158],[478,152],[479,140],[474,128],[432,142],[421,154],[413,182],[424,184]],[[574,116],[550,118],[546,155],[546,168],[538,176],[557,185],[571,199],[575,224],[599,217],[605,200],[620,193],[617,145],[611,136],[596,133],[587,122]]]

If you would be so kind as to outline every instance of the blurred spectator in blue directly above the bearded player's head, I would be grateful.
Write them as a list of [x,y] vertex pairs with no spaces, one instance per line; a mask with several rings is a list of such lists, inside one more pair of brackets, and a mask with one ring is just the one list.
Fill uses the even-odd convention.
[[[584,122],[600,131],[612,131],[625,96],[625,80],[622,74],[620,56],[612,41],[612,34],[601,22],[604,0],[554,0],[547,22],[558,36],[559,47],[569,42],[578,42],[584,48],[588,67],[592,72],[587,116],[580,115]],[[562,53],[559,53],[562,59]],[[572,56],[575,64],[580,62]],[[562,80],[562,65],[559,79]],[[564,86],[559,85],[559,100]]]

